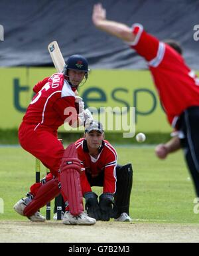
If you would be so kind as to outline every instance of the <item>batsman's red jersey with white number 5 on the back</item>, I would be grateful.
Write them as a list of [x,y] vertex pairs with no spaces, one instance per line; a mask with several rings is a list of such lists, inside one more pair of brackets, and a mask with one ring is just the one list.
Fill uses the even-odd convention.
[[[75,94],[64,74],[56,73],[44,78],[33,90],[36,95],[27,108],[23,122],[35,124],[34,130],[44,128],[56,131],[72,113],[72,122],[77,120]],[[66,108],[73,108],[73,112],[64,113]]]

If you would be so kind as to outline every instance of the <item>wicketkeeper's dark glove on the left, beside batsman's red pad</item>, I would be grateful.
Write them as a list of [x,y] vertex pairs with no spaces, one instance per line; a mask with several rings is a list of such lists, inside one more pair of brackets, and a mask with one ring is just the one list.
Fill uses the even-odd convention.
[[101,220],[101,212],[98,204],[98,195],[94,192],[84,193],[84,198],[86,199],[86,211],[89,217],[94,219]]

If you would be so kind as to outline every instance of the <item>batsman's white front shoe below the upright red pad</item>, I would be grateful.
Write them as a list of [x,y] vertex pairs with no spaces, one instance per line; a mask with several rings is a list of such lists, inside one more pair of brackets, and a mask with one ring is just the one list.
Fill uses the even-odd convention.
[[96,219],[89,217],[86,213],[82,212],[80,215],[72,215],[69,211],[64,214],[63,223],[66,225],[94,225]]

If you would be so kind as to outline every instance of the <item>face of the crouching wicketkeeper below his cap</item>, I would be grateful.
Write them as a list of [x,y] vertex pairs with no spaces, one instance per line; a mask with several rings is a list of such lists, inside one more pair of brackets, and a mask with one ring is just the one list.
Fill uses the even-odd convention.
[[88,148],[98,149],[101,146],[104,134],[98,131],[91,131],[85,134]]

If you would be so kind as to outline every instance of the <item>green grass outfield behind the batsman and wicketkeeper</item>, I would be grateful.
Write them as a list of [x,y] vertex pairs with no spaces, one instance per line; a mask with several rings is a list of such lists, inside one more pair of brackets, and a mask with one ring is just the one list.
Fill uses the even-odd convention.
[[[194,188],[188,180],[182,152],[161,161],[153,147],[116,147],[119,164],[133,164],[131,217],[151,223],[198,223],[193,212]],[[0,148],[0,197],[5,203],[1,219],[24,219],[13,211],[13,205],[34,182],[34,158],[15,147]],[[44,175],[44,168],[43,168]],[[101,188],[94,188],[100,193]],[[44,213],[44,208],[41,211]]]

